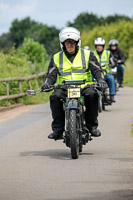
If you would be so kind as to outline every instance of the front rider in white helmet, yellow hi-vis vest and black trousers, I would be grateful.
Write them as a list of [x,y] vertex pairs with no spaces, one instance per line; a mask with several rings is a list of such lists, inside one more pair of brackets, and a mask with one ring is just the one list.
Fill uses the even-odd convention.
[[[80,48],[80,32],[74,27],[65,27],[59,33],[62,51],[56,53],[49,64],[42,90],[49,89],[50,85],[62,85],[63,80],[86,79],[91,83],[91,73],[98,81],[101,88],[107,87],[100,65],[92,52]],[[58,78],[57,78],[58,77]],[[86,83],[87,85],[87,83]],[[101,135],[98,127],[98,95],[93,88],[83,88],[82,95],[85,98],[86,126],[94,137]],[[50,96],[50,108],[52,111],[52,130],[49,139],[62,139],[65,126],[65,112],[61,99],[67,97],[67,91],[55,89]]]

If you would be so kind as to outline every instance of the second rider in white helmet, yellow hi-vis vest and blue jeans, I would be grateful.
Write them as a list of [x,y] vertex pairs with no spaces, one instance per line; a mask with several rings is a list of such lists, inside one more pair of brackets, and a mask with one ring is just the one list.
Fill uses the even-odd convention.
[[95,51],[94,54],[104,71],[105,80],[109,87],[110,101],[115,102],[115,80],[111,72],[111,67],[115,67],[114,58],[110,51],[104,50],[105,40],[102,37],[98,37],[94,41]]

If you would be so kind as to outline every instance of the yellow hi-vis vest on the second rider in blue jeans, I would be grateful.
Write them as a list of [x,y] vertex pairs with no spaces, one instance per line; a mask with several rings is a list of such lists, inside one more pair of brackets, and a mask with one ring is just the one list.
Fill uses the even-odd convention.
[[110,51],[103,50],[101,58],[99,57],[99,55],[98,55],[96,50],[94,51],[94,54],[95,54],[98,62],[100,63],[103,71],[104,71],[104,75],[107,74],[107,73],[111,73],[112,74],[111,68],[109,67]]

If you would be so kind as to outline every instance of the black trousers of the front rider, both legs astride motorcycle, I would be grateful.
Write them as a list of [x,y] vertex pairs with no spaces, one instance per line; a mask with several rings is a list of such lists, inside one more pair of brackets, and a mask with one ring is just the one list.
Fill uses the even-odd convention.
[[[85,121],[89,130],[98,126],[98,94],[93,88],[82,89],[82,95],[85,98]],[[52,130],[55,133],[62,134],[65,129],[65,112],[63,110],[63,102],[67,97],[67,91],[57,89],[50,96],[50,108],[52,111]]]

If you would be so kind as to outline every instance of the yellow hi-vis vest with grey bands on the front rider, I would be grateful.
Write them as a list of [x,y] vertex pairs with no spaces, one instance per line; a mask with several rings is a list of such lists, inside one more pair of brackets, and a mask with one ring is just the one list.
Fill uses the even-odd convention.
[[89,57],[89,50],[79,49],[73,63],[71,63],[63,51],[56,53],[54,63],[59,71],[57,83],[62,84],[63,80],[86,79],[87,83],[83,84],[82,87],[92,84]]

